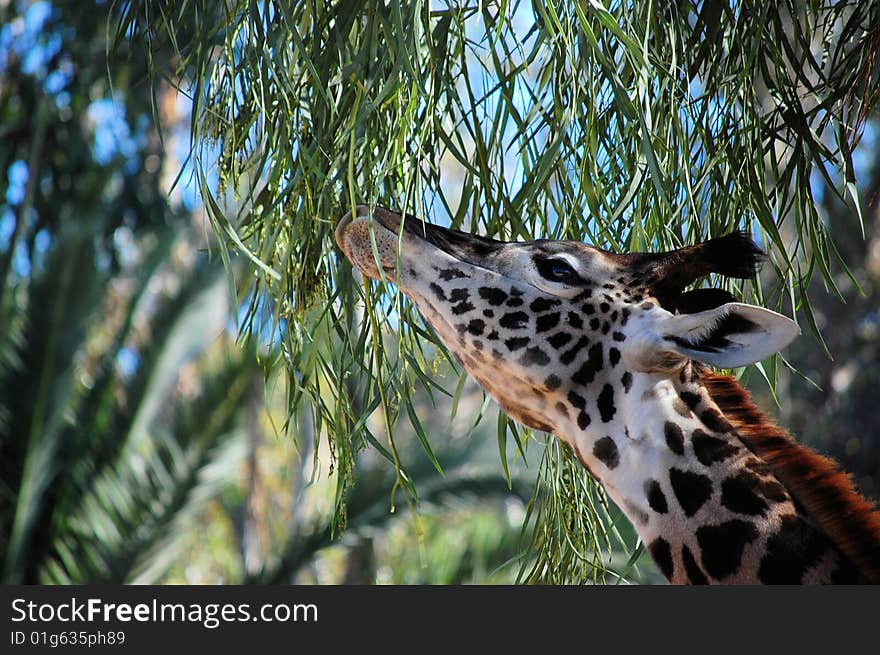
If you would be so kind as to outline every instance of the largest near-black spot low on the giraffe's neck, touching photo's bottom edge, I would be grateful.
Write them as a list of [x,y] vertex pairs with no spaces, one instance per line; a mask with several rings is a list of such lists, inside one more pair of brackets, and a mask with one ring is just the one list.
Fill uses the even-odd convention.
[[783,516],[779,530],[767,539],[767,550],[758,567],[764,584],[800,584],[830,546],[827,537],[799,516]]

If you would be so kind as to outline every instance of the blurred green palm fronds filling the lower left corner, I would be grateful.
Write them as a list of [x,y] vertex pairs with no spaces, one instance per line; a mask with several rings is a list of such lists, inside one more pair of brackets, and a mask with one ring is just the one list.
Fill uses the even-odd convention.
[[13,290],[0,332],[5,582],[155,580],[187,517],[241,466],[253,355],[220,357],[181,388],[226,310],[222,268],[187,270],[175,236],[111,276],[94,270],[94,226],[68,226]]

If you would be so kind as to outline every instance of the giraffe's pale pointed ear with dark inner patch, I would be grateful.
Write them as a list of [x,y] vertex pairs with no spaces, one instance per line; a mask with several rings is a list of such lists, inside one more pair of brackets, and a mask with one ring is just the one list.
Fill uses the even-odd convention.
[[657,327],[666,349],[718,368],[759,362],[801,333],[797,323],[781,314],[737,302],[677,314]]

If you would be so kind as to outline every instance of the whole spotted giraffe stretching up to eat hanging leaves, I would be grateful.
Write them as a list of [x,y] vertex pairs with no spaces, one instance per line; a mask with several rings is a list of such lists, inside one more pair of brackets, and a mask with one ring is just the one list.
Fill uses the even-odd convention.
[[763,253],[746,235],[621,255],[358,206],[336,241],[397,284],[509,416],[571,447],[671,583],[880,583],[874,506],[710,368],[800,333],[726,291],[685,290],[752,277]]

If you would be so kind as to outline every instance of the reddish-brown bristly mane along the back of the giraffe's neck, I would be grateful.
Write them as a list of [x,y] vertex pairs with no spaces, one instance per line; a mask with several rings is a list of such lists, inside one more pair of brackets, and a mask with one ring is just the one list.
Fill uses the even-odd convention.
[[770,466],[861,573],[880,584],[880,513],[855,490],[849,474],[795,442],[761,413],[732,377],[704,370],[700,379],[743,443]]

